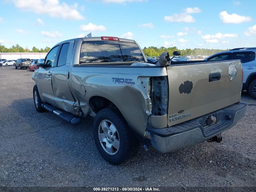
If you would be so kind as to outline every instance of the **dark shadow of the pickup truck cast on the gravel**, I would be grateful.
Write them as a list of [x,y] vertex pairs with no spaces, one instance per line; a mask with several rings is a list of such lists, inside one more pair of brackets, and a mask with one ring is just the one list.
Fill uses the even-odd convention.
[[[232,150],[221,143],[208,142],[166,154],[161,154],[151,147],[145,151],[141,145],[135,157],[120,166],[113,166],[98,153],[94,143],[91,118],[84,118],[81,124],[72,126],[53,113],[38,113],[35,110],[33,98],[16,100],[10,107],[17,116],[12,120],[18,120],[18,126],[14,127],[15,131],[9,136],[15,138],[14,142],[18,141],[13,143],[17,146],[15,148],[18,150],[17,153],[24,156],[27,155],[24,153],[29,150],[32,151],[32,155],[28,157],[30,159],[45,161],[54,159],[56,166],[68,164],[64,168],[66,172],[70,167],[81,168],[92,173],[95,167],[99,173],[109,167],[116,174],[121,174],[120,171],[125,169],[134,172],[135,176],[131,180],[143,182],[147,180],[148,175],[152,174],[156,178],[165,175],[164,177],[169,179],[177,179],[184,175],[184,171],[193,170],[195,173],[205,175],[211,171],[225,178],[227,174],[237,173],[238,168],[241,170],[241,167],[244,171],[253,169],[246,165],[251,164],[249,162],[254,159],[243,156],[242,149]],[[2,109],[0,109],[1,112]],[[22,118],[24,114],[29,118]],[[18,143],[22,143],[22,147]],[[136,167],[136,170],[133,170],[133,167]],[[166,176],[167,172],[169,175]]]

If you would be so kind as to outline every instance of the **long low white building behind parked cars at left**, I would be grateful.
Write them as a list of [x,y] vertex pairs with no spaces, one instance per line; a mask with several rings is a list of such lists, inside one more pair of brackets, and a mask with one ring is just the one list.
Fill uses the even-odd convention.
[[0,53],[0,59],[12,60],[20,58],[45,59],[47,53]]

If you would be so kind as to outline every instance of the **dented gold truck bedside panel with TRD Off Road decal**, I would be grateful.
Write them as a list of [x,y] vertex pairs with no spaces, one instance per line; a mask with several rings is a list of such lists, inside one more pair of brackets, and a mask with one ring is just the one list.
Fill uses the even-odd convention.
[[[92,96],[101,96],[110,100],[120,110],[128,125],[143,136],[148,118],[147,98],[138,88],[138,77],[166,75],[165,67],[78,66],[72,68],[71,91],[74,93],[75,102],[80,103],[85,115],[96,115],[89,106],[89,99]],[[116,79],[119,79],[119,83]],[[130,79],[127,82],[134,83],[125,83],[125,79]],[[86,90],[85,96],[81,94],[82,85]]]

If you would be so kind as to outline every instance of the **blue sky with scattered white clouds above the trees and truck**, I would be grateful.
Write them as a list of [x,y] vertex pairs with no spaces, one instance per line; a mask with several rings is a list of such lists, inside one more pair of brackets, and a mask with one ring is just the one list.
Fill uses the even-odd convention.
[[91,32],[141,48],[255,47],[255,7],[255,0],[0,0],[0,43],[44,49]]

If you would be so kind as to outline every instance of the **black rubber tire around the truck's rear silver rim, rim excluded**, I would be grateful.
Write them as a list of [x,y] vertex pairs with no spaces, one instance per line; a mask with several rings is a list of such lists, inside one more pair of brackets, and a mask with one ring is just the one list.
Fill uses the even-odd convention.
[[[103,120],[111,121],[118,132],[120,145],[117,153],[114,155],[105,152],[99,140],[98,129]],[[106,161],[113,165],[120,165],[121,163],[126,162],[138,152],[139,140],[128,127],[128,124],[120,111],[115,107],[102,109],[97,113],[93,122],[93,134],[99,153]]]

